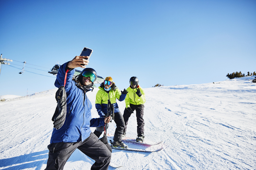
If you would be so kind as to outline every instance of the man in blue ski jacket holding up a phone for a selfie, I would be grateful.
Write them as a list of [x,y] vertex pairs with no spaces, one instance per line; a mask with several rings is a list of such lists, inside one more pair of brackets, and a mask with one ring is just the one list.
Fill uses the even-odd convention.
[[[110,117],[91,119],[91,102],[86,96],[97,79],[94,69],[86,68],[88,56],[76,56],[60,66],[55,86],[64,86],[67,94],[67,113],[61,128],[53,129],[46,170],[62,170],[70,155],[79,149],[95,160],[91,169],[108,169],[111,151],[91,132],[91,127],[104,126]],[[81,65],[83,64],[83,65]],[[74,68],[84,70],[72,80]]]

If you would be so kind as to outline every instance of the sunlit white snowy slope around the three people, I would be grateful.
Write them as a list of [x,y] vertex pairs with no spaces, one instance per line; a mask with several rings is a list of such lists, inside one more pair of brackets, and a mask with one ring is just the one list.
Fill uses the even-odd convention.
[[[163,140],[165,149],[154,153],[113,150],[112,162],[123,165],[119,170],[256,169],[254,77],[144,89],[145,140]],[[0,102],[0,169],[46,167],[56,90]],[[87,93],[93,105],[96,92]],[[124,101],[118,105],[123,112]],[[98,117],[96,108],[92,114]],[[132,114],[127,136],[136,137],[136,126]],[[114,130],[112,122],[108,132]],[[64,169],[89,170],[93,162],[76,150]]]

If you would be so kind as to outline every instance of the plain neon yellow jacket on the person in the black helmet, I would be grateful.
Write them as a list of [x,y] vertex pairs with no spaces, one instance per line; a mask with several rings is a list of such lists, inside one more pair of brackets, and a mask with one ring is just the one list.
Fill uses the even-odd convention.
[[[140,92],[142,94],[141,97],[136,94],[138,88],[140,89]],[[139,85],[137,86],[137,88],[128,87],[126,90],[128,91],[125,98],[126,108],[130,107],[130,104],[139,105],[146,102],[144,90]]]

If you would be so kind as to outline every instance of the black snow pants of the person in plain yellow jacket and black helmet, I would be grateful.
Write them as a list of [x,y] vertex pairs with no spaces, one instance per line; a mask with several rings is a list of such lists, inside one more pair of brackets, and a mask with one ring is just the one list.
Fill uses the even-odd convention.
[[[140,104],[140,105],[130,104],[130,107],[131,107],[132,111],[136,110],[138,136],[141,136],[141,135],[144,136],[144,119],[143,119],[144,105],[143,104]],[[127,124],[128,124],[129,117],[131,116],[131,113],[129,113],[128,110],[125,108],[123,116],[124,116],[124,120],[125,120],[124,133],[126,133]]]

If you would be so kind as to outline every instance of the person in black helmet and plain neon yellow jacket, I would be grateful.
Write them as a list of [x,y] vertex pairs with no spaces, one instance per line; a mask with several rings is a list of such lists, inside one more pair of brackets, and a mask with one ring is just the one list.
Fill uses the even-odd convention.
[[125,121],[125,129],[123,136],[126,135],[126,129],[128,124],[128,119],[133,113],[134,110],[136,110],[136,117],[137,117],[137,133],[138,137],[136,139],[137,142],[143,142],[144,141],[144,103],[145,100],[145,93],[144,90],[139,86],[139,79],[137,77],[131,77],[130,78],[130,87],[126,89],[128,91],[126,98],[125,98],[125,104],[126,108],[124,111],[124,121]]

